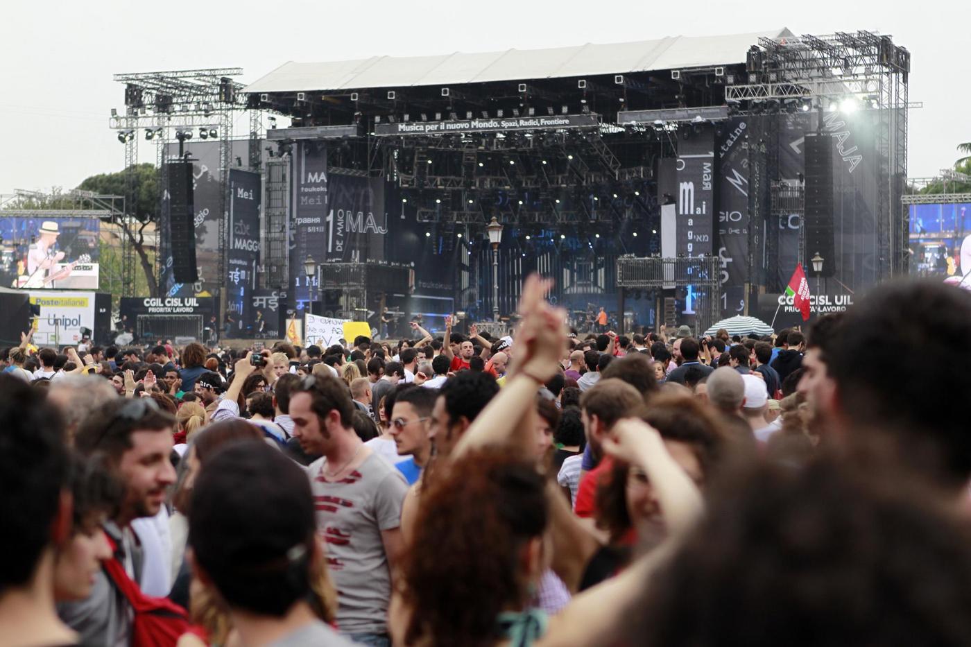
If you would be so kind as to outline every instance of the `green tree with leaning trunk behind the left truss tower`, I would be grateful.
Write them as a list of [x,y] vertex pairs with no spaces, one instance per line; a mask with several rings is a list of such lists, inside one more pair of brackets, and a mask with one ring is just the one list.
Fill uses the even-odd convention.
[[[157,296],[158,281],[155,278],[155,266],[152,255],[146,246],[145,229],[155,215],[158,204],[158,169],[152,164],[138,164],[135,173],[135,204],[125,205],[125,218],[118,221],[121,234],[128,240],[138,255],[139,263],[145,274],[145,286],[150,296]],[[102,173],[86,178],[78,187],[85,191],[94,191],[102,195],[125,194],[125,172]],[[104,246],[102,246],[104,248]],[[120,259],[118,260],[120,263]],[[136,284],[140,284],[136,280]],[[118,286],[123,288],[123,286]],[[112,294],[116,291],[113,289]]]

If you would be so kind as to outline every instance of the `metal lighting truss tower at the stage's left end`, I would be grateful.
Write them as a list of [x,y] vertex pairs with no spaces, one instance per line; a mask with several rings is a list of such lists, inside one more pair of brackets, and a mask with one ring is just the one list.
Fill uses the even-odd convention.
[[[156,278],[161,284],[162,270],[172,251],[168,236],[168,204],[166,162],[169,147],[179,132],[196,128],[217,129],[219,138],[219,240],[225,240],[229,208],[229,167],[232,154],[233,112],[246,108],[244,85],[233,81],[243,74],[238,67],[205,70],[177,70],[117,74],[115,81],[125,85],[123,115],[112,111],[110,127],[119,132],[125,145],[125,198],[128,216],[134,216],[136,204],[135,165],[138,163],[138,141],[143,132],[156,145],[155,163],[158,165],[159,202],[156,212],[159,250],[155,256]],[[252,127],[251,127],[252,129]],[[250,153],[253,163],[253,153]],[[258,161],[258,160],[257,160]],[[218,276],[225,274],[225,250],[219,255]],[[135,252],[130,237],[125,238],[122,253],[122,275],[125,295],[135,286]],[[159,285],[159,288],[163,286]]]

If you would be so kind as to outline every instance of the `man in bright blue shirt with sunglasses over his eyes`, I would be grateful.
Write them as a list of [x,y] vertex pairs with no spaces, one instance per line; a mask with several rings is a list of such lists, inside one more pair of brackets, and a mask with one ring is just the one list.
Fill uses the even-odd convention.
[[[431,458],[431,439],[428,437],[431,410],[438,398],[437,389],[421,389],[416,385],[399,388],[391,410],[391,437],[398,456],[405,460],[394,463],[405,476],[408,485],[414,485],[421,470]],[[409,456],[410,455],[410,456]]]

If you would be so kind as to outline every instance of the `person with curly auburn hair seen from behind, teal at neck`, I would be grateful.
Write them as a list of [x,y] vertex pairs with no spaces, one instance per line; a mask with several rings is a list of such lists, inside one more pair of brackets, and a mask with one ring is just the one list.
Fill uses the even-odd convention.
[[452,463],[422,493],[395,644],[485,647],[545,626],[527,603],[547,567],[548,516],[534,460],[485,450]]

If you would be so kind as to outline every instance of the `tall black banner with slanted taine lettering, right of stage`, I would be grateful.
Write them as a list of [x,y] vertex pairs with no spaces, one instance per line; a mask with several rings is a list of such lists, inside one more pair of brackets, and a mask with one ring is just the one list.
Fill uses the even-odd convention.
[[749,256],[748,119],[736,117],[725,121],[716,141],[721,311],[725,317],[745,310]]

